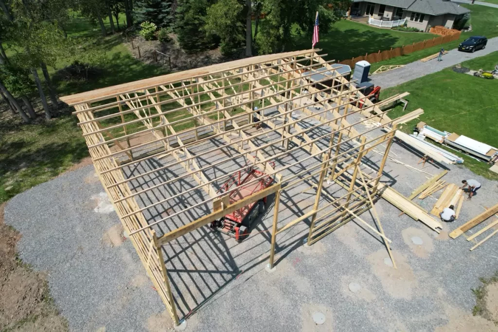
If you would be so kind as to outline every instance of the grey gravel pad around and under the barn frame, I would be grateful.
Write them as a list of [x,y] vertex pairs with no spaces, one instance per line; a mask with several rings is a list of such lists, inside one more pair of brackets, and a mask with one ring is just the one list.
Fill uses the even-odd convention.
[[[376,129],[370,136],[378,134]],[[403,146],[395,143],[391,151],[402,162],[417,165],[419,156]],[[305,155],[296,153],[281,162]],[[370,153],[364,162],[375,167],[380,159]],[[464,202],[459,220],[444,224],[441,234],[399,216],[383,200],[375,204],[392,240],[397,270],[385,263],[385,247],[361,223],[350,222],[306,247],[302,240],[308,225],[303,222],[278,235],[276,271],[269,274],[264,267],[272,203],[242,243],[202,227],[163,246],[179,315],[188,315],[187,331],[497,331],[470,313],[475,304],[471,288],[479,286],[479,277],[498,269],[498,241],[492,238],[471,252],[472,244],[463,236],[452,240],[447,235],[498,202],[497,182],[462,166],[449,169],[446,181],[460,184],[475,178],[483,188]],[[382,181],[407,196],[441,166],[427,166],[423,171],[430,174],[424,174],[389,161],[384,170]],[[140,167],[134,171],[140,172]],[[227,170],[217,170],[221,171]],[[173,169],[157,176],[175,174]],[[135,190],[155,179],[136,183]],[[281,224],[309,208],[314,196],[306,190],[301,185],[282,195]],[[327,185],[325,191],[336,197],[344,193],[337,185]],[[47,272],[55,304],[71,331],[166,331],[172,322],[131,243],[123,241],[120,221],[102,193],[93,166],[87,166],[14,197],[5,208],[5,222],[23,234],[20,258]],[[153,195],[157,197],[140,195],[139,204],[165,194]],[[436,201],[415,200],[429,210]],[[161,207],[166,212],[169,208]],[[161,209],[148,211],[147,218],[158,218]],[[373,223],[369,212],[362,218]],[[414,236],[423,243],[415,245]],[[316,312],[325,315],[323,325],[313,322]]]

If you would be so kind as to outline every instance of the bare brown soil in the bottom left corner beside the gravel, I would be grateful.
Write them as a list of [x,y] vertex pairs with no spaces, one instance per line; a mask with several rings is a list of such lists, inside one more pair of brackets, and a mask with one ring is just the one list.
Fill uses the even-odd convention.
[[0,205],[0,331],[68,331],[43,273],[17,258],[15,245],[21,235],[3,222],[4,207]]

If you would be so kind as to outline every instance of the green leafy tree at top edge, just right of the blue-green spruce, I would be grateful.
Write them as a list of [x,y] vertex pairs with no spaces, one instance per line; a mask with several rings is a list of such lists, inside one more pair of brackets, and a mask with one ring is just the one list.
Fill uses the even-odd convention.
[[207,0],[178,0],[175,32],[186,52],[204,51],[218,44],[216,38],[204,29],[207,8]]

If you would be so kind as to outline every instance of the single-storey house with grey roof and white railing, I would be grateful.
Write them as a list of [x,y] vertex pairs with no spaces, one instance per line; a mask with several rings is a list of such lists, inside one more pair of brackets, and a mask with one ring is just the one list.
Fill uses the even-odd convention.
[[453,28],[470,12],[449,0],[353,0],[352,16],[372,16],[380,20],[406,19],[408,27],[428,31],[431,26]]

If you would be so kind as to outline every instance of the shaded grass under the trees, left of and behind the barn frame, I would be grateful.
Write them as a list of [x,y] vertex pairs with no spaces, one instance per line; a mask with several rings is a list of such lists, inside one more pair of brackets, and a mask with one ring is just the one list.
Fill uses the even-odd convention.
[[[120,18],[123,27],[123,18]],[[110,29],[109,20],[106,25]],[[134,59],[120,34],[101,36],[100,27],[93,27],[86,19],[74,13],[66,28],[74,38],[89,37],[105,52],[107,61],[102,65],[103,74],[89,82],[55,82],[59,95],[74,94],[101,87],[121,84],[165,74],[160,67],[147,65]],[[7,52],[12,52],[10,49]],[[8,53],[7,53],[8,55]],[[60,69],[74,59],[57,64]],[[54,73],[55,69],[49,68]],[[9,116],[0,117],[0,203],[43,183],[88,156],[81,130],[72,110],[50,121],[37,120],[33,124],[19,124]]]

